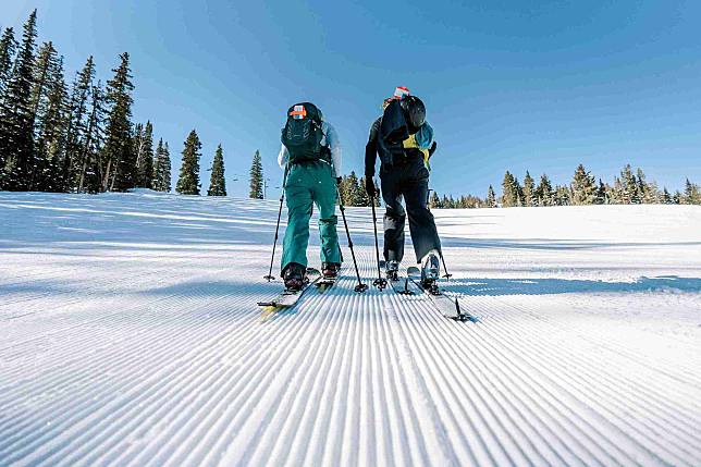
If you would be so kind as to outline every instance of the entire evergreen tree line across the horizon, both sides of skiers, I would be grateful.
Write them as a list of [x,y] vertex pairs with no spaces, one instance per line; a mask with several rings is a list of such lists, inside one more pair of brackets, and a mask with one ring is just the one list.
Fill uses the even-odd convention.
[[[96,78],[88,57],[69,85],[63,57],[51,41],[37,45],[37,12],[32,12],[20,38],[12,27],[0,36],[0,191],[101,193],[135,187],[171,191],[168,142],[155,144],[153,124],[132,122],[134,103],[130,54],[119,56],[112,77]],[[156,146],[156,148],[155,148]],[[201,143],[193,130],[182,151],[175,191],[199,195]],[[210,196],[225,196],[223,150],[212,162]],[[365,180],[343,176],[340,192],[347,206],[369,206]],[[260,152],[250,169],[251,198],[262,198],[265,179]],[[612,184],[580,164],[571,183],[555,185],[546,174],[539,184],[526,172],[522,185],[508,171],[502,196],[490,185],[487,197],[454,198],[432,192],[432,208],[567,206],[604,204],[701,204],[699,185],[686,181],[684,192],[669,193],[648,182],[641,169],[628,164]]]

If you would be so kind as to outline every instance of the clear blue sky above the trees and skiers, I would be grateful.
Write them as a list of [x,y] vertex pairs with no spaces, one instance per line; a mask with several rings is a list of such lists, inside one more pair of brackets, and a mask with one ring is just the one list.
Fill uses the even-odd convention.
[[484,196],[505,170],[568,183],[580,162],[608,181],[629,162],[669,188],[701,182],[698,1],[155,3],[5,0],[0,26],[37,8],[69,76],[94,54],[108,78],[128,51],[135,120],[170,143],[175,174],[189,130],[202,169],[221,143],[233,195],[256,149],[279,185],[280,128],[299,100],[336,126],[344,171],[362,172],[368,127],[396,85],[427,103],[439,193]]

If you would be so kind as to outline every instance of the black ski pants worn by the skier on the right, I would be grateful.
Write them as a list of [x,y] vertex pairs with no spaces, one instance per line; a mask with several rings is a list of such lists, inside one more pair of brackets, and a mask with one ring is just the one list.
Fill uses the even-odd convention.
[[[420,157],[408,157],[392,167],[380,168],[384,213],[384,259],[404,258],[404,225],[409,218],[409,233],[416,260],[419,262],[432,249],[441,251],[441,239],[433,214],[428,208],[429,171]],[[406,201],[406,211],[402,206]]]

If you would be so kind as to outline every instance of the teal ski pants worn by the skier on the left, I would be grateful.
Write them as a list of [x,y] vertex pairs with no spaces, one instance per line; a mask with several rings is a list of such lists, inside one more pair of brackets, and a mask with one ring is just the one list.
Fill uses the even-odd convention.
[[312,204],[319,209],[321,261],[341,262],[339,234],[336,233],[336,181],[333,170],[325,162],[293,164],[285,184],[287,199],[287,229],[282,249],[282,271],[291,262],[307,266],[309,219]]

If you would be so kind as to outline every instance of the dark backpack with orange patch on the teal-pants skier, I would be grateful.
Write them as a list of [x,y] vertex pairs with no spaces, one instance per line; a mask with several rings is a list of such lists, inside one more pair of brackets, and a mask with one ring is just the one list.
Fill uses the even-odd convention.
[[321,146],[321,111],[311,102],[300,102],[287,110],[282,128],[282,144],[290,152],[290,162],[328,160],[329,149]]

